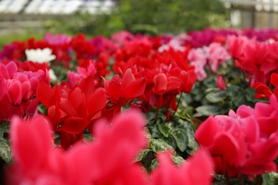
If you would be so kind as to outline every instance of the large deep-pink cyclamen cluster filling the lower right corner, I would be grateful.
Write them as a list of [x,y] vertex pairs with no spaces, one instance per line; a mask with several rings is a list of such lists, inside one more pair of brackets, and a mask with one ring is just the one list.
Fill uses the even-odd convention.
[[276,171],[278,155],[277,98],[270,104],[246,105],[229,115],[210,116],[196,131],[200,147],[209,149],[216,172],[228,176]]

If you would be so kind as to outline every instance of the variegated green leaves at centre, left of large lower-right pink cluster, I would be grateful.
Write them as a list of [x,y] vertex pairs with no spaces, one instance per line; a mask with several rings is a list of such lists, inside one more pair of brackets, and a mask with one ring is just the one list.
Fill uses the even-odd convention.
[[143,164],[148,171],[152,171],[158,165],[156,156],[160,152],[172,151],[173,163],[180,165],[199,148],[192,121],[179,116],[167,120],[164,111],[160,109],[146,114],[149,144],[148,148],[138,154],[135,161]]

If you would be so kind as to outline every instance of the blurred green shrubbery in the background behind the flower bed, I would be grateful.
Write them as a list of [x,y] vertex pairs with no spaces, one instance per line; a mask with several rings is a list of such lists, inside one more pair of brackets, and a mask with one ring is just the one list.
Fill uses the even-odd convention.
[[109,12],[78,12],[70,17],[71,21],[68,18],[48,21],[46,28],[52,33],[88,36],[110,36],[120,30],[172,34],[225,27],[227,15],[218,0],[121,0]]

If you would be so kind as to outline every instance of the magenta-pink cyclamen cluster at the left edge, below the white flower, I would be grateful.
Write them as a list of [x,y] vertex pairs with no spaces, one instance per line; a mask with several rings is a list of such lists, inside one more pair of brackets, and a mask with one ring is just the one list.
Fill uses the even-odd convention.
[[24,117],[37,110],[38,83],[49,84],[47,70],[17,72],[16,63],[0,63],[0,121],[11,120],[13,115]]

